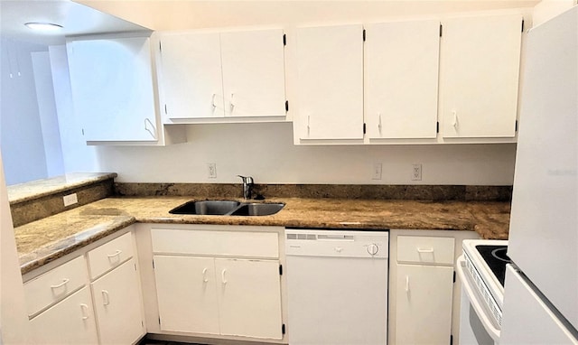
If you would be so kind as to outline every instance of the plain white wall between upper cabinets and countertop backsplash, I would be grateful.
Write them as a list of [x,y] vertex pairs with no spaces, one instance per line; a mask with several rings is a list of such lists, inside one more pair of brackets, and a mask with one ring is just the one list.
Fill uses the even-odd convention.
[[[511,185],[516,145],[295,146],[290,123],[191,125],[190,142],[165,147],[98,148],[101,171],[117,182]],[[217,179],[207,163],[217,164]],[[373,163],[383,163],[372,180]],[[423,180],[411,181],[413,163]]]

